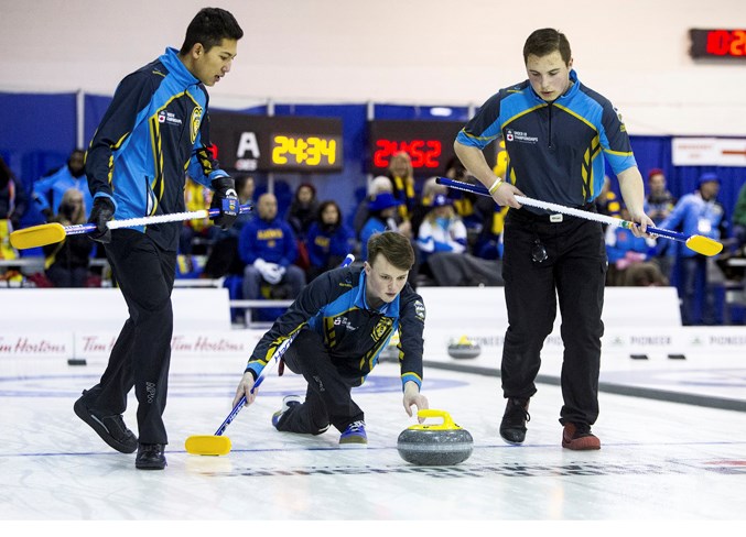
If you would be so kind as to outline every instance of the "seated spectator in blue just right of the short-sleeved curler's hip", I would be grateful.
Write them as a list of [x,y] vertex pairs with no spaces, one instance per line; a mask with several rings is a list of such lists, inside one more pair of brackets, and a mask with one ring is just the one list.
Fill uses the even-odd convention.
[[[629,211],[623,207],[620,218],[629,220]],[[656,252],[656,240],[635,237],[631,230],[617,226],[606,228],[606,256],[608,271],[606,285],[625,285],[626,272],[635,264],[650,260]]]

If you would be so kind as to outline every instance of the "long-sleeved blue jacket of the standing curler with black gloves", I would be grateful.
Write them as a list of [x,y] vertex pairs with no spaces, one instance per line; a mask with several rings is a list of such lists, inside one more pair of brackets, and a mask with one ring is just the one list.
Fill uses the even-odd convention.
[[[110,198],[116,219],[182,212],[186,173],[207,187],[227,176],[206,149],[207,103],[205,86],[175,48],[125,77],[86,155],[94,198]],[[180,229],[172,222],[140,231],[175,251]]]

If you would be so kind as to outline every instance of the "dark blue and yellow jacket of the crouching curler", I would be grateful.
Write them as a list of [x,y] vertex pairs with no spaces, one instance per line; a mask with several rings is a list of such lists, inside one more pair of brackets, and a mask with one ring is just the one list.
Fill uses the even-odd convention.
[[409,284],[390,304],[368,306],[366,275],[361,267],[335,268],[306,285],[295,302],[259,340],[246,371],[258,377],[274,351],[299,330],[314,330],[332,362],[346,379],[360,385],[376,366],[378,355],[399,330],[402,387],[408,381],[422,385],[422,332],[425,309],[422,297]]

